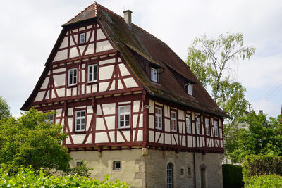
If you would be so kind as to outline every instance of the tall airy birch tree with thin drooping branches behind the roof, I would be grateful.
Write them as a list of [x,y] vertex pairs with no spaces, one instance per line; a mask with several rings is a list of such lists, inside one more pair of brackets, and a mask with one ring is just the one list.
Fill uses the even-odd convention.
[[[243,46],[240,33],[219,35],[208,39],[196,37],[188,49],[187,64],[206,89],[211,88],[212,97],[231,119],[224,121],[225,148],[234,151],[237,145],[238,124],[236,118],[246,110],[245,87],[231,79],[232,66],[255,54],[253,46]],[[208,89],[209,90],[209,89]]]

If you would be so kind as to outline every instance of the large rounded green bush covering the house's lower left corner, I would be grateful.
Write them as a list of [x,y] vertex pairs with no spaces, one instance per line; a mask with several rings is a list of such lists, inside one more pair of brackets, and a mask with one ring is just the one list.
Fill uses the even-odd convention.
[[18,120],[8,118],[0,122],[0,163],[11,171],[21,167],[69,171],[71,158],[61,145],[67,137],[61,125],[50,123],[49,114],[30,109]]

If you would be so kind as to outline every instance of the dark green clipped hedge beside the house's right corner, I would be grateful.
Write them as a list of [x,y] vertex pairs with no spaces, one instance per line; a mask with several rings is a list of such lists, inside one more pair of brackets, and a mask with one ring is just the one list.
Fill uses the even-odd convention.
[[240,165],[222,165],[223,187],[244,187],[242,167]]

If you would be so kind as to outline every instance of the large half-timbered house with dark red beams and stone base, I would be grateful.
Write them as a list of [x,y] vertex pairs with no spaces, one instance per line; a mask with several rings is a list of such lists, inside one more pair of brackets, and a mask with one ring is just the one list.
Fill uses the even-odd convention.
[[164,42],[96,2],[63,25],[21,108],[56,111],[71,165],[132,187],[222,187],[223,117]]

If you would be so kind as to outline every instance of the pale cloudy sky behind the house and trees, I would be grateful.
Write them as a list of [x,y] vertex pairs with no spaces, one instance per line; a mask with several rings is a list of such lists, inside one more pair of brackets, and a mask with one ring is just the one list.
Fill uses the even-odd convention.
[[[0,96],[19,117],[61,32],[61,25],[90,0],[13,0],[0,6]],[[243,33],[255,46],[250,60],[235,62],[233,79],[246,87],[258,113],[275,117],[282,105],[282,1],[280,0],[97,0],[118,15],[133,11],[135,25],[161,39],[183,61],[195,37]],[[3,3],[2,3],[3,5]]]

